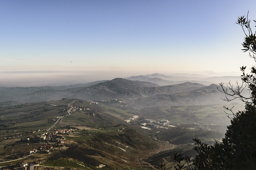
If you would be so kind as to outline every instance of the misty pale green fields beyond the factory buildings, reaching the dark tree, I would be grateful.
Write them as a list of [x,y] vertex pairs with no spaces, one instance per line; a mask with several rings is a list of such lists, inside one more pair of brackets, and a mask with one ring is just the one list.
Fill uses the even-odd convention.
[[[232,105],[234,111],[243,110],[244,105]],[[228,105],[227,107],[232,107]],[[227,126],[230,119],[227,117],[223,105],[213,106],[179,106],[142,109],[142,113],[155,120],[167,119],[173,124],[216,124]]]

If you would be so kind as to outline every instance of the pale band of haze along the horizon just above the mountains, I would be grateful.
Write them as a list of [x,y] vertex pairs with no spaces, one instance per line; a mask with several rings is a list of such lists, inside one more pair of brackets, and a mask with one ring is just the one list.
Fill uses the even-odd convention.
[[[32,87],[32,86],[60,86],[60,85],[75,85],[84,84],[100,80],[112,80],[114,78],[128,78],[131,76],[140,76],[155,74],[141,72],[116,72],[116,71],[90,71],[90,72],[68,72],[68,71],[12,71],[0,72],[2,81],[0,87]],[[208,77],[221,76],[240,76],[239,72],[180,72],[168,73],[158,72],[167,76],[184,76],[184,77],[198,77],[198,79]],[[239,80],[239,79],[238,79]]]

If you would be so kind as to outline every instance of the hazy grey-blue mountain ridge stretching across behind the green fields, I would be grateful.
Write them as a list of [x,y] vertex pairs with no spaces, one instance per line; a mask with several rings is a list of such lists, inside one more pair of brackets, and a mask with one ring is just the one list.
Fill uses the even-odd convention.
[[[148,76],[149,80],[160,79],[150,78],[150,76]],[[158,74],[157,76],[168,78],[165,75]],[[135,78],[139,77],[147,78],[147,76]],[[72,86],[0,87],[0,102],[5,104],[6,101],[31,103],[76,98],[98,101],[120,99],[136,107],[208,105],[223,103],[220,99],[222,93],[217,90],[217,86],[216,84],[203,85],[191,82],[160,86],[147,81],[115,78],[110,81]],[[17,104],[16,102],[10,102],[10,104]]]

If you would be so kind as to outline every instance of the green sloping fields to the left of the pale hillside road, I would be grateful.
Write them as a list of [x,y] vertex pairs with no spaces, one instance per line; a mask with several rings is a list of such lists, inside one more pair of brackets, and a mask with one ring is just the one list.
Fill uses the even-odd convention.
[[[54,102],[28,103],[12,107],[1,107],[0,115],[4,130],[22,132],[27,130],[43,130],[50,128],[60,115],[67,115],[68,100]],[[51,106],[57,105],[57,106]],[[66,106],[65,106],[66,105]],[[64,110],[65,109],[65,110]]]

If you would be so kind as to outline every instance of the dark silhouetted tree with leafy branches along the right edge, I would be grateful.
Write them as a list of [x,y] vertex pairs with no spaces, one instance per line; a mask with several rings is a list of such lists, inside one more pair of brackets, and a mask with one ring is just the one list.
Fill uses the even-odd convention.
[[[256,63],[256,36],[252,31],[251,21],[247,17],[238,17],[236,24],[240,25],[245,34],[242,43],[243,51],[249,51],[249,56]],[[256,27],[256,21],[253,20]],[[256,169],[256,67],[251,67],[251,72],[245,74],[246,66],[240,67],[242,71],[242,85],[232,85],[229,83],[227,87],[220,83],[221,92],[226,97],[223,100],[231,101],[240,99],[245,103],[243,111],[234,113],[232,108],[224,107],[229,112],[228,117],[231,124],[227,127],[225,137],[222,142],[215,140],[213,145],[201,142],[199,139],[193,139],[196,146],[197,155],[191,163],[189,157],[183,157],[181,154],[175,153],[172,158],[175,160],[176,170],[236,170],[236,169]],[[249,94],[242,93],[249,90]],[[187,162],[181,164],[181,161]],[[168,169],[163,164],[158,165],[160,169]]]

